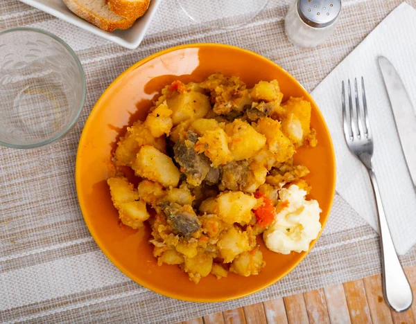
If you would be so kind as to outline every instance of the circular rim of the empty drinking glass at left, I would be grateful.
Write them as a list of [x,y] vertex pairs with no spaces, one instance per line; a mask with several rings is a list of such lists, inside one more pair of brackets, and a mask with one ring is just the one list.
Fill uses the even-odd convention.
[[36,147],[41,147],[44,145],[51,144],[54,141],[56,141],[58,138],[64,136],[65,134],[67,134],[67,132],[69,132],[69,130],[76,124],[78,118],[80,117],[81,111],[83,111],[86,93],[87,93],[87,85],[85,82],[85,73],[84,73],[83,65],[81,64],[80,59],[78,58],[76,53],[73,51],[73,49],[66,42],[64,42],[64,40],[60,39],[60,37],[53,35],[52,33],[49,33],[46,30],[43,30],[40,28],[32,28],[32,27],[15,27],[15,28],[6,29],[0,32],[0,36],[6,33],[12,33],[12,32],[21,31],[21,30],[44,34],[46,36],[52,37],[53,39],[58,41],[62,46],[64,46],[64,48],[66,48],[69,54],[71,54],[71,56],[73,57],[73,60],[75,60],[76,65],[78,66],[78,71],[80,71],[80,75],[81,75],[81,87],[83,88],[80,106],[78,107],[75,116],[69,121],[69,123],[64,127],[64,129],[62,129],[62,131],[60,131],[58,134],[44,141],[41,141],[39,143],[33,143],[33,144],[16,145],[16,144],[10,144],[10,143],[0,141],[0,145],[4,147],[10,147],[10,148],[15,148],[15,149],[31,149],[31,148],[36,148]]

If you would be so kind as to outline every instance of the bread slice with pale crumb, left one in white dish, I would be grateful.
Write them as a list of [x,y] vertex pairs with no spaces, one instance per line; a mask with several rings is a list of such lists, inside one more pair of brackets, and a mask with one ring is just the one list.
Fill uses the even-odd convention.
[[105,0],[63,0],[75,15],[107,31],[127,29],[134,20],[128,20],[112,12]]

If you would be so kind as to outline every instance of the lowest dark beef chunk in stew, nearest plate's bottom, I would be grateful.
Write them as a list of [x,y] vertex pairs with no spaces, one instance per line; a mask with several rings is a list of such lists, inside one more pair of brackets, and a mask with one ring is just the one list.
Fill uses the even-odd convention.
[[192,206],[180,206],[176,203],[164,202],[161,205],[168,224],[172,226],[173,233],[180,236],[190,236],[201,228],[198,216]]

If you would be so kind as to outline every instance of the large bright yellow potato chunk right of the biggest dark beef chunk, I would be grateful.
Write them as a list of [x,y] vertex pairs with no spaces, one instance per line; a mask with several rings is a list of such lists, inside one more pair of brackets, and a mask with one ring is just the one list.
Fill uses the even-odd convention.
[[239,119],[225,126],[225,132],[231,138],[228,147],[235,161],[250,159],[266,145],[266,136]]

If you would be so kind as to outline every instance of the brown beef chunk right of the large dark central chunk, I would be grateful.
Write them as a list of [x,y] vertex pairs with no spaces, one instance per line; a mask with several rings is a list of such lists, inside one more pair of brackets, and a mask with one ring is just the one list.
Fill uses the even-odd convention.
[[232,161],[221,167],[221,184],[233,191],[241,190],[245,186],[245,177],[249,171],[248,161]]

